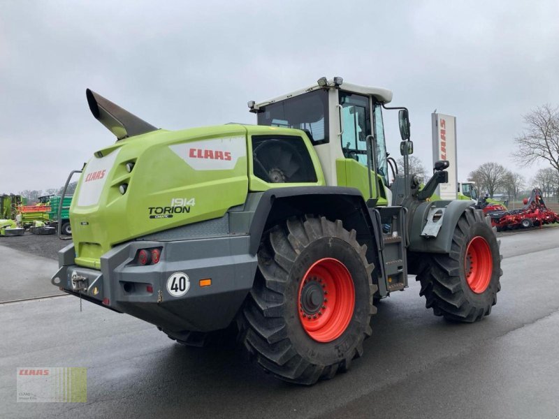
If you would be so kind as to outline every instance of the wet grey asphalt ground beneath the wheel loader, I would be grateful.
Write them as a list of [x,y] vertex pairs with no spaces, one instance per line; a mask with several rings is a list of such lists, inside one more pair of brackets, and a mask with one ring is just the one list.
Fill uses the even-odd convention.
[[[89,303],[80,313],[75,297],[0,304],[0,416],[556,418],[559,229],[506,235],[502,253],[484,321],[436,318],[413,283],[379,303],[351,371],[312,388],[261,374],[234,346],[184,348],[130,316]],[[86,404],[15,402],[16,367],[57,366],[88,367]]]

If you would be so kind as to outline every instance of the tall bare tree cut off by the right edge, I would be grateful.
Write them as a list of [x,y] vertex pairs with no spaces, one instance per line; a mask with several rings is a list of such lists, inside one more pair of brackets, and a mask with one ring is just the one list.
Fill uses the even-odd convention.
[[514,141],[514,159],[522,166],[546,160],[559,175],[559,108],[546,104],[523,116],[525,130]]

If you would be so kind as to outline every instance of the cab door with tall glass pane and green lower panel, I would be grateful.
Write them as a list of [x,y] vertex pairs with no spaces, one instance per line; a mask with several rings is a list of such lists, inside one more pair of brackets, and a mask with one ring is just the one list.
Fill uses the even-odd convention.
[[377,193],[378,177],[372,170],[370,172],[372,176],[372,196],[370,194],[367,142],[365,141],[368,135],[372,135],[370,98],[361,94],[340,91],[339,103],[342,121],[342,135],[340,137],[344,158],[336,160],[337,184],[358,189],[365,200],[377,198],[379,196]]

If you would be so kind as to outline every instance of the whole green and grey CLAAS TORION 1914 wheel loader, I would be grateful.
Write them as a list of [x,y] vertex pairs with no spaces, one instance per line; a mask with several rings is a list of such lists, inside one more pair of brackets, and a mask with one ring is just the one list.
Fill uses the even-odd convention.
[[[117,142],[81,175],[52,283],[183,344],[235,325],[261,367],[303,384],[361,355],[373,302],[408,274],[435,315],[483,318],[502,274],[491,223],[468,201],[428,202],[448,163],[419,189],[391,97],[321,78],[249,102],[257,126],[165,131],[88,90]],[[383,108],[400,110],[402,175],[389,176]]]

